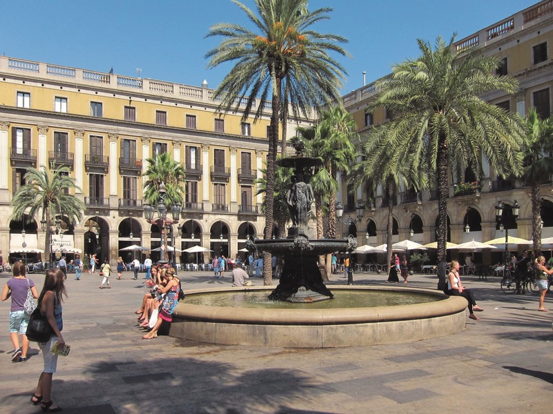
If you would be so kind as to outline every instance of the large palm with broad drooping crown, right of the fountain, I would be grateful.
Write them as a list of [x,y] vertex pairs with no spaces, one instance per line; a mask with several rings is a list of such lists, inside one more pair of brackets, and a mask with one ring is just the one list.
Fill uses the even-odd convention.
[[472,164],[480,172],[484,154],[498,175],[522,173],[520,117],[480,99],[491,90],[512,94],[518,82],[493,75],[497,57],[482,57],[476,50],[454,52],[454,41],[455,35],[449,44],[438,37],[433,49],[418,40],[421,56],[400,63],[379,81],[379,93],[367,108],[383,107],[394,115],[390,128],[373,135],[371,143],[375,152],[388,155],[391,169],[406,157],[410,168],[427,163],[437,177],[438,288],[445,284],[448,166]]

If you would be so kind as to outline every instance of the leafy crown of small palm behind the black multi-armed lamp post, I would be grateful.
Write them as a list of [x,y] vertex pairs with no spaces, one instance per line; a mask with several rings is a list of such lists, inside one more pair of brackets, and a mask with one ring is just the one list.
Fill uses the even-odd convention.
[[156,206],[160,201],[160,185],[165,184],[165,205],[182,204],[182,181],[185,181],[185,169],[180,162],[171,158],[169,152],[156,157],[147,158],[148,168],[144,176],[148,177],[144,184],[144,200]]

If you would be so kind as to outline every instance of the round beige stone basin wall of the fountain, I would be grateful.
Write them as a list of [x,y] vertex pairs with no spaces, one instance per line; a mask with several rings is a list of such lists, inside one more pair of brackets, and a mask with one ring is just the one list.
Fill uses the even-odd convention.
[[[328,286],[340,290],[409,290],[440,298],[438,302],[400,306],[335,309],[225,308],[180,302],[169,335],[221,345],[282,348],[339,348],[400,344],[458,333],[465,329],[467,300],[438,290],[393,286]],[[198,293],[259,291],[274,286],[202,289]]]

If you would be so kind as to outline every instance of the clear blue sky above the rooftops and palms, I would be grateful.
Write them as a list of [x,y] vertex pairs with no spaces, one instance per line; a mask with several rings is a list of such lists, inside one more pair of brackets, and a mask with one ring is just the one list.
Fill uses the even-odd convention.
[[[252,0],[243,0],[252,6]],[[310,0],[331,7],[330,20],[314,26],[340,34],[353,59],[345,94],[391,71],[393,63],[418,57],[416,39],[458,39],[537,3],[535,0]],[[135,77],[216,88],[230,66],[207,70],[205,53],[220,41],[205,39],[215,23],[247,24],[230,0],[19,0],[5,1],[0,53]]]

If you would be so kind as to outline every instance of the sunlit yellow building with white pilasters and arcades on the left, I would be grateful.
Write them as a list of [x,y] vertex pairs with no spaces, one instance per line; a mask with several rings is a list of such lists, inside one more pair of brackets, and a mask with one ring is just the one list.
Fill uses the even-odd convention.
[[[207,81],[187,86],[0,57],[4,260],[39,259],[30,250],[44,250],[47,242],[60,250],[57,257],[62,248],[75,248],[81,257],[96,253],[112,263],[135,255],[120,250],[131,244],[159,248],[160,229],[144,219],[142,190],[146,160],[163,152],[186,172],[185,201],[173,226],[176,248],[199,245],[234,258],[247,236],[263,237],[263,195],[254,181],[265,168],[270,103],[259,121],[243,122],[240,109],[221,112],[213,92]],[[297,125],[289,122],[288,135]],[[10,203],[28,168],[60,165],[71,169],[86,210],[75,226],[60,217],[59,231],[53,228],[57,234],[46,241],[41,217],[14,221]],[[178,253],[176,262],[196,262],[196,255]]]

